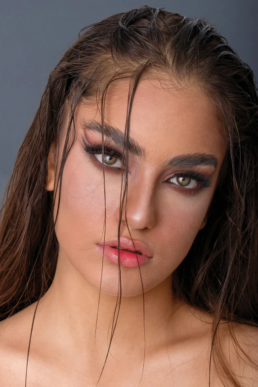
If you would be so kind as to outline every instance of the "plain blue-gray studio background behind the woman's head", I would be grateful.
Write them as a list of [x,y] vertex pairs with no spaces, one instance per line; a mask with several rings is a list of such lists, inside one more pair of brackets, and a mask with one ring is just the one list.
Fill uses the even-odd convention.
[[[0,197],[22,139],[39,107],[48,75],[79,31],[136,0],[1,0]],[[192,18],[205,18],[258,77],[257,0],[148,0]]]

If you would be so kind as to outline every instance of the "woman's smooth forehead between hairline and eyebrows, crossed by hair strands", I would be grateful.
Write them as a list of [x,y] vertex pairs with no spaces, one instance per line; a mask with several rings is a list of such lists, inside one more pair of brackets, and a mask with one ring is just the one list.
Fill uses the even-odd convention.
[[[129,81],[116,81],[107,91],[105,123],[125,130]],[[81,119],[101,122],[95,103],[80,104]],[[135,90],[130,114],[129,136],[147,149],[176,154],[224,153],[214,107],[196,86],[175,86],[157,79],[141,80]]]

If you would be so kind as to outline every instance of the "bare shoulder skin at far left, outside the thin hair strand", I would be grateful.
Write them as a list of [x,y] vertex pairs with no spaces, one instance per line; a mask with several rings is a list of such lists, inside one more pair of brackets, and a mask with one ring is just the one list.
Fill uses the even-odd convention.
[[0,322],[0,386],[22,386],[25,381],[34,310],[32,304]]

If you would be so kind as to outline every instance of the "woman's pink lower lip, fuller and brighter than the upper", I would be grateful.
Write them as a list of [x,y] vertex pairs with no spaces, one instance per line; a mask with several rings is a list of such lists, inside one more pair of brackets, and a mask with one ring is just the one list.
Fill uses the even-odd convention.
[[[97,248],[101,254],[103,254],[104,251],[104,256],[111,260],[114,263],[118,264],[118,249],[115,247],[111,246],[103,246],[97,245]],[[137,257],[136,257],[137,256]],[[137,261],[138,258],[138,261]],[[136,254],[133,252],[125,251],[125,250],[120,250],[120,264],[122,266],[126,267],[138,267],[138,266],[143,266],[144,264],[148,263],[151,260],[152,257],[146,257],[141,254]],[[138,265],[139,262],[139,265]]]

